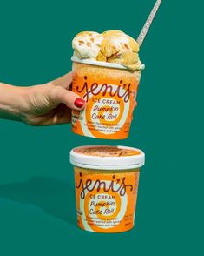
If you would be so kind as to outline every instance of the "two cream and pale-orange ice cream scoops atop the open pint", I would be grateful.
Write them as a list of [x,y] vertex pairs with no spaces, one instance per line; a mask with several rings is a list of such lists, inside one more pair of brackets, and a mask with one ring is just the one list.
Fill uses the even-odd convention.
[[132,71],[141,66],[139,44],[120,30],[109,30],[102,34],[81,32],[73,39],[72,47],[74,56],[81,59],[122,64]]

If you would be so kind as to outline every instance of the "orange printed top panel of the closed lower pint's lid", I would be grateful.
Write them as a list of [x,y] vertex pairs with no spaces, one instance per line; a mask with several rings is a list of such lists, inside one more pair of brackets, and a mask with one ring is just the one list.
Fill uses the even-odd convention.
[[139,155],[140,152],[117,146],[85,146],[74,150],[77,153],[97,157],[129,157]]

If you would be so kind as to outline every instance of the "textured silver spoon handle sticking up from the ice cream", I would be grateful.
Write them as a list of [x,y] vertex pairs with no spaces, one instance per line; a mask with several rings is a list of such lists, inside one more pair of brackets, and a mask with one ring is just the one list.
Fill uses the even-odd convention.
[[136,41],[137,43],[141,46],[141,44],[143,43],[144,41],[144,38],[146,37],[146,35],[148,34],[148,30],[155,18],[155,14],[157,12],[157,10],[159,9],[160,7],[160,4],[161,4],[161,0],[157,0],[156,3],[155,3],[155,6],[153,7],[152,11],[150,12],[149,16],[148,16],[148,19],[146,21],[146,23],[144,24],[142,30],[141,30],[141,33],[139,35],[139,37],[137,37]]

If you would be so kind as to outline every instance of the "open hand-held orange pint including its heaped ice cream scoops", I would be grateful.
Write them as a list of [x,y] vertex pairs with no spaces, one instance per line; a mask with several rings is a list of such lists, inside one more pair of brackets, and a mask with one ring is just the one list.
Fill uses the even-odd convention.
[[122,31],[82,32],[73,40],[72,91],[86,101],[72,111],[72,131],[94,138],[128,138],[141,79],[139,46]]

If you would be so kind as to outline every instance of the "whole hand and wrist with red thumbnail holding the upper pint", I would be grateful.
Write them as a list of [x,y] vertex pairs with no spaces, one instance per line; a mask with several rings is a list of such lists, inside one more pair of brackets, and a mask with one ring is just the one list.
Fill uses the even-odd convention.
[[0,118],[28,125],[70,123],[71,110],[81,111],[85,101],[70,91],[72,73],[47,84],[30,87],[0,83]]

